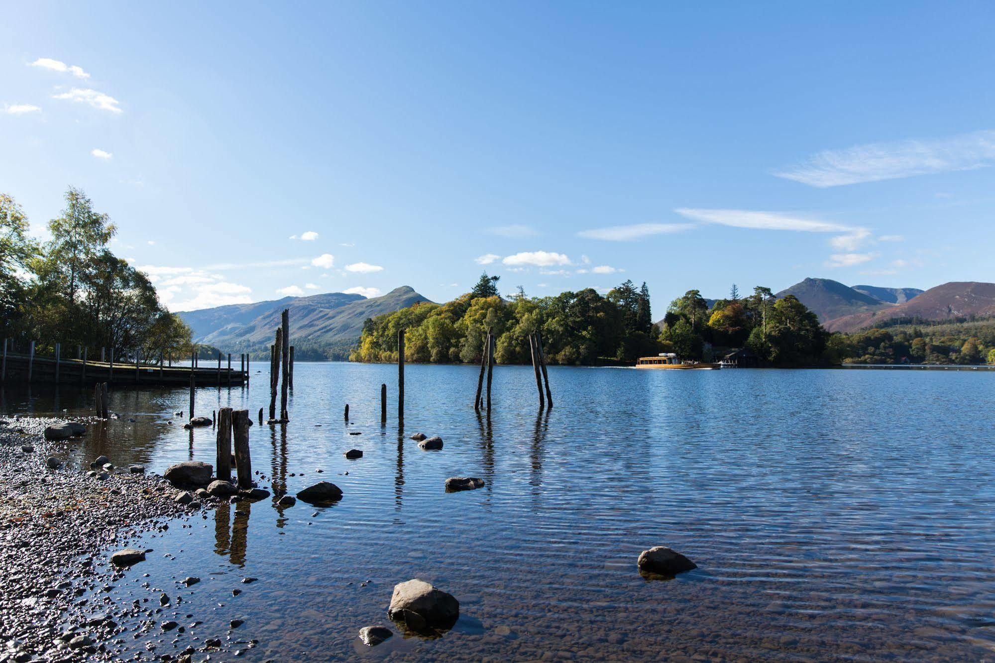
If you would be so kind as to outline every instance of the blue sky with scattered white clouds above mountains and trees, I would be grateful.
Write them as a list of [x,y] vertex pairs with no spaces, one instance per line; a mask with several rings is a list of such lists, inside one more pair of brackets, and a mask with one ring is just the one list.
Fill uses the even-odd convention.
[[0,191],[86,190],[173,310],[995,281],[991,3],[4,13]]

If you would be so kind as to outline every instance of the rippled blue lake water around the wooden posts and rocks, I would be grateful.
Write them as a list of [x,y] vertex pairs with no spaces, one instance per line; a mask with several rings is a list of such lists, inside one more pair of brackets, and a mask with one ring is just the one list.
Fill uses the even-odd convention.
[[[254,364],[249,388],[199,389],[197,414],[255,419],[268,367]],[[235,635],[260,644],[244,660],[995,657],[993,374],[553,366],[555,407],[539,415],[531,367],[498,366],[489,420],[472,404],[476,367],[406,373],[401,429],[396,367],[298,363],[292,422],[253,426],[253,468],[267,488],[327,480],[344,498],[226,505],[148,535],[150,577],[132,571],[113,593],[199,575],[182,591],[197,630],[245,619]],[[7,390],[0,409],[89,413],[90,398]],[[122,418],[77,458],[213,463],[214,431],[172,415],[187,399],[112,393]],[[421,451],[418,431],[445,449]],[[363,458],[345,460],[350,448]],[[487,486],[447,494],[452,476]],[[653,546],[698,568],[646,580],[636,557]],[[390,625],[392,588],[412,577],[460,599],[456,627],[363,647],[358,629]]]

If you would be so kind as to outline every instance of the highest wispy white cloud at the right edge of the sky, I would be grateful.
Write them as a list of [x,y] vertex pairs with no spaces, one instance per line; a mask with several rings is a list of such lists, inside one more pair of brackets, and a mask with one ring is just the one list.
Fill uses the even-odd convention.
[[827,188],[938,172],[973,170],[995,164],[995,129],[947,138],[871,142],[826,149],[773,174]]

